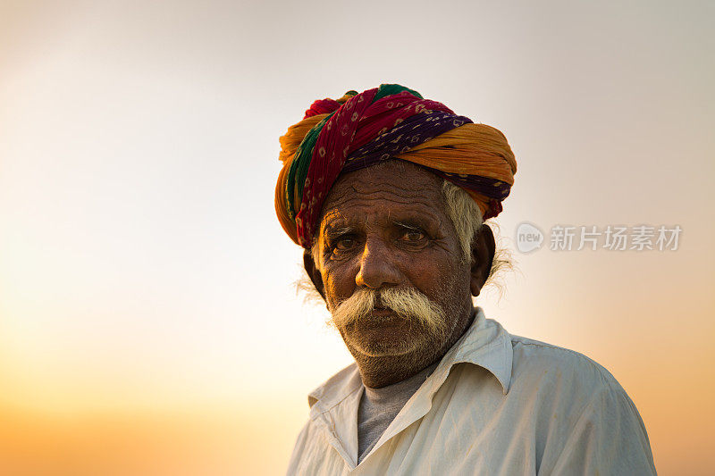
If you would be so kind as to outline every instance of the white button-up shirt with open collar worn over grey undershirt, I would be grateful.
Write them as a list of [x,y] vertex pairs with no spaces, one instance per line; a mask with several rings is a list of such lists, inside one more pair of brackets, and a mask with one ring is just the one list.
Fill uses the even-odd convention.
[[655,474],[626,391],[585,355],[510,335],[477,308],[357,464],[355,364],[308,396],[289,474]]

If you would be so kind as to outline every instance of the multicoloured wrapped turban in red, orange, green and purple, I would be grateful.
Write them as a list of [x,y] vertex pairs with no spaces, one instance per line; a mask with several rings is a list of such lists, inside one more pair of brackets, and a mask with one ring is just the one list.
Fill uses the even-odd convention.
[[517,171],[499,130],[397,84],[317,100],[280,140],[275,211],[283,230],[305,248],[343,171],[391,158],[416,163],[464,188],[484,220],[501,212]]

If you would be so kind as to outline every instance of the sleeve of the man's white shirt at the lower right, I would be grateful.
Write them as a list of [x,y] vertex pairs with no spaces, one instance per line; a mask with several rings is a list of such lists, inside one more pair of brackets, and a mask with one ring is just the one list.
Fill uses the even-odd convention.
[[604,382],[540,474],[656,474],[641,415],[618,382]]

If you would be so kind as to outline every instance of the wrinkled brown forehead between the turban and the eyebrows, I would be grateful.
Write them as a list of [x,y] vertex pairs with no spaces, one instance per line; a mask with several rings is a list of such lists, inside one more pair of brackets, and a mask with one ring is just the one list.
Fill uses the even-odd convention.
[[399,213],[400,218],[428,215],[442,221],[442,183],[433,172],[399,160],[349,172],[328,193],[318,228],[325,221],[355,220],[366,212]]

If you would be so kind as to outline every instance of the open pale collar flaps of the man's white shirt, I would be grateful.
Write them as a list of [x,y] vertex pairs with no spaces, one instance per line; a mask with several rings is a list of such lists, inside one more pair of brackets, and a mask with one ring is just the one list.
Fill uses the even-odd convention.
[[[486,319],[484,310],[476,308],[475,320],[457,343],[442,357],[433,374],[427,379],[433,394],[447,379],[451,368],[458,363],[473,363],[483,367],[499,380],[504,395],[509,392],[511,383],[511,363],[513,351],[509,333],[501,324]],[[426,383],[426,382],[425,382]],[[307,397],[311,415],[324,413],[340,404],[347,397],[359,390],[362,385],[357,365],[352,363],[341,372],[315,388]]]

